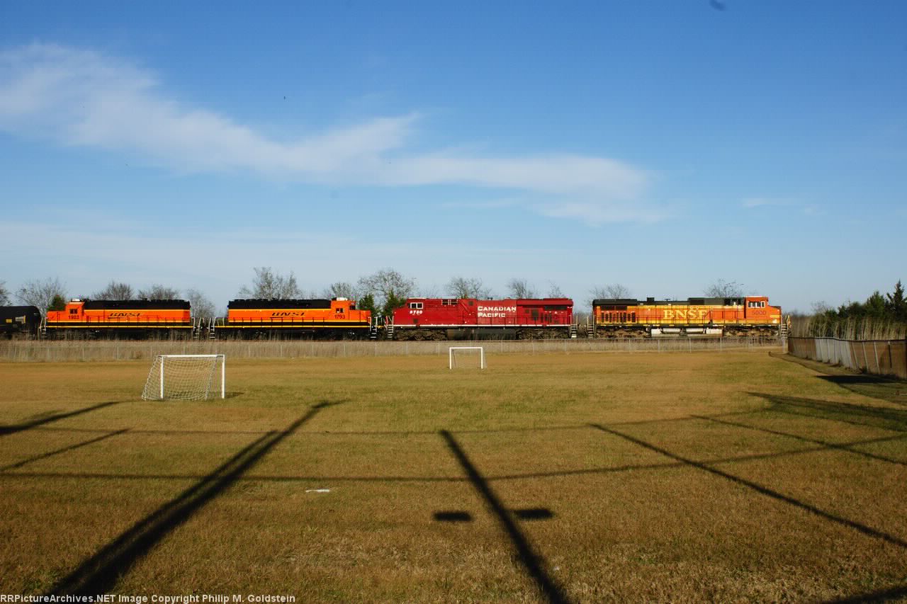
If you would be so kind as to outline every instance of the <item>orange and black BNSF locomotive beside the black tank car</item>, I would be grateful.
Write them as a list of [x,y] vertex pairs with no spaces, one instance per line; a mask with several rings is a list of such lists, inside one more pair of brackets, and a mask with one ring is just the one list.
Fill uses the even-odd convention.
[[48,310],[47,337],[186,337],[195,324],[187,300],[82,300]]

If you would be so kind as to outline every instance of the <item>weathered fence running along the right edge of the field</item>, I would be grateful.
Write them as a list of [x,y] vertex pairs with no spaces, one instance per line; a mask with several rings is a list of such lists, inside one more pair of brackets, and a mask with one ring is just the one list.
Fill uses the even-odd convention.
[[787,339],[787,350],[800,358],[907,379],[907,340],[790,337]]

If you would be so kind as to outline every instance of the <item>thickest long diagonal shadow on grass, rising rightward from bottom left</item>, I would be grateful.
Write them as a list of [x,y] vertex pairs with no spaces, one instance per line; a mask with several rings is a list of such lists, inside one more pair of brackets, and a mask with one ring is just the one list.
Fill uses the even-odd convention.
[[247,472],[300,426],[306,424],[320,411],[336,404],[340,403],[316,404],[286,429],[264,434],[250,443],[203,480],[136,522],[132,528],[105,545],[92,558],[85,560],[54,585],[48,595],[94,595],[111,591],[116,581],[171,531],[218,497],[236,482],[243,472]]

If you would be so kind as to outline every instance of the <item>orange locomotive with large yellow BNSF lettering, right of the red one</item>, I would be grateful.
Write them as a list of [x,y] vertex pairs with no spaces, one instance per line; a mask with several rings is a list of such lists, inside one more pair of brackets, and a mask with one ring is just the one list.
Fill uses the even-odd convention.
[[781,322],[765,296],[592,301],[596,337],[776,336]]

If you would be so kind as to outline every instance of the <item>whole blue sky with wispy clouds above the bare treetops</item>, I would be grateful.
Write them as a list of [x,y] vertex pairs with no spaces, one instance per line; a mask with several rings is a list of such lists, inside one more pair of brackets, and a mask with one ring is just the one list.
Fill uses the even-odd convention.
[[0,3],[0,280],[907,278],[907,3]]

